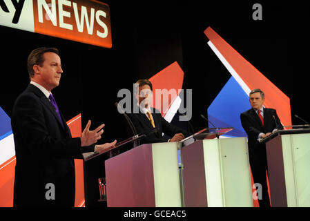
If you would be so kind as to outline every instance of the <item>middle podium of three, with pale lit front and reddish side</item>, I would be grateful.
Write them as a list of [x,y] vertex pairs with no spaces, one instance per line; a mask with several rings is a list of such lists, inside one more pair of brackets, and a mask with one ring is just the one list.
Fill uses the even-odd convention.
[[253,206],[246,137],[196,140],[181,155],[186,207]]

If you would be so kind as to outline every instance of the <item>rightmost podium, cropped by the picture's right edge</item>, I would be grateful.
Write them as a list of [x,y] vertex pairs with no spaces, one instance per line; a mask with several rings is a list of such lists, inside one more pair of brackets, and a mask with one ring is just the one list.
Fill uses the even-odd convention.
[[266,143],[271,205],[310,206],[310,129],[276,131]]

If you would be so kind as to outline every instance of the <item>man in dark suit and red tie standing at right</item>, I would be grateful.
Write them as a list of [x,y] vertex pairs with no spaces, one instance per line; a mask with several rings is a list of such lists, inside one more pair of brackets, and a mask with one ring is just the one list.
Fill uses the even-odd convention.
[[[275,129],[283,129],[275,109],[264,108],[264,92],[254,89],[250,92],[251,109],[240,115],[241,124],[248,135],[249,160],[253,180],[262,185],[262,198],[258,197],[260,207],[270,207],[267,187],[266,145],[260,139],[269,136]],[[259,195],[260,196],[260,195]]]

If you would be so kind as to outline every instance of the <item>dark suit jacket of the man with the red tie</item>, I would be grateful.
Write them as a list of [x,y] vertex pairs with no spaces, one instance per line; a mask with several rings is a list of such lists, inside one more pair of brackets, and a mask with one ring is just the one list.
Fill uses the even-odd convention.
[[264,126],[253,108],[240,115],[241,124],[248,135],[249,158],[251,164],[267,164],[266,145],[258,142],[260,133],[271,133],[275,128],[275,120],[279,129],[283,129],[275,109],[264,108]]

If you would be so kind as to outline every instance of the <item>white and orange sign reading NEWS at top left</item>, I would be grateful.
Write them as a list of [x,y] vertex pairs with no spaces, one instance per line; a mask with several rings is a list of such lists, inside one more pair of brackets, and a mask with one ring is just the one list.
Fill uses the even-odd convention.
[[0,25],[112,47],[110,8],[95,0],[0,0]]

